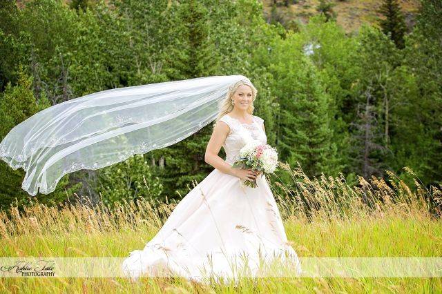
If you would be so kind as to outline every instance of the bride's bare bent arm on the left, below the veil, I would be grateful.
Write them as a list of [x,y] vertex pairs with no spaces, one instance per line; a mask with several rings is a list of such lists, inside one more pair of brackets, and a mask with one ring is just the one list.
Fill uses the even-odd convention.
[[209,143],[206,147],[206,154],[204,155],[204,161],[210,164],[214,168],[222,171],[222,173],[227,173],[229,175],[236,174],[238,168],[232,168],[224,159],[222,159],[218,153],[220,153],[222,144],[224,144],[227,135],[229,135],[230,128],[224,121],[218,121],[215,128],[213,128],[213,133],[210,137]]

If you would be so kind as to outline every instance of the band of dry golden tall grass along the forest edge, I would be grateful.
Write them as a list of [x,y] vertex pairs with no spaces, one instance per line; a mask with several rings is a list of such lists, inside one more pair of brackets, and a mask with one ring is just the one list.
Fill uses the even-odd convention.
[[[320,179],[309,179],[299,165],[291,168],[280,162],[279,166],[292,179],[290,183],[271,183],[281,217],[285,220],[378,219],[385,214],[403,217],[419,215],[429,219],[441,216],[442,186],[426,188],[410,168],[404,169],[414,175],[416,190],[390,171],[387,172],[390,186],[385,179],[372,177],[367,182],[363,177],[358,177],[361,187],[350,187],[342,174],[340,177],[322,175]],[[40,204],[35,198],[30,206],[19,208],[12,205],[10,217],[6,211],[0,211],[0,236],[8,239],[36,232],[52,235],[136,231],[146,227],[155,231],[164,224],[177,204],[175,199],[159,202],[140,198],[131,203],[117,202],[111,208],[102,204],[93,206],[88,198],[75,196],[77,201],[60,204],[59,208]]]

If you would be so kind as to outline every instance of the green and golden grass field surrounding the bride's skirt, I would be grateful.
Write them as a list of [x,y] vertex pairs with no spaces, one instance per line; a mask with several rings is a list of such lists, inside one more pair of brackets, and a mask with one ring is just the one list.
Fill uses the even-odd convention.
[[[291,181],[272,189],[287,237],[300,257],[441,257],[441,187],[431,190],[415,178],[412,189],[390,178],[309,179],[282,164]],[[412,170],[405,168],[410,175]],[[278,188],[278,189],[277,189]],[[282,191],[282,192],[281,192]],[[428,201],[429,197],[433,201]],[[368,203],[364,204],[365,202]],[[3,257],[126,257],[155,235],[176,202],[142,200],[105,206],[65,204],[59,210],[35,202],[24,211],[0,214]],[[439,215],[439,216],[438,216]],[[204,286],[183,278],[1,278],[1,293],[441,293],[442,278],[262,278]]]

